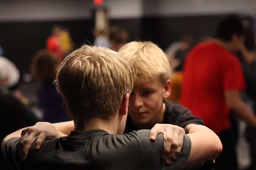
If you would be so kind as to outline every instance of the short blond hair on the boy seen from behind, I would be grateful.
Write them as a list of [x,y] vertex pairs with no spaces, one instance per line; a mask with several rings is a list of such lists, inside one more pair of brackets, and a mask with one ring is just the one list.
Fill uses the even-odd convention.
[[120,54],[104,47],[83,45],[69,54],[55,80],[74,119],[109,119],[133,88],[132,72]]

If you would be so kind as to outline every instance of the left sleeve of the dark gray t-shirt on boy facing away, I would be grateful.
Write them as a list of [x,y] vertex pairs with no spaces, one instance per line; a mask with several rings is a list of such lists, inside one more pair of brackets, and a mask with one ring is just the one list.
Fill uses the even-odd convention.
[[6,142],[5,156],[8,161],[9,167],[12,170],[18,170],[17,165],[17,146],[19,142],[19,137],[11,138]]

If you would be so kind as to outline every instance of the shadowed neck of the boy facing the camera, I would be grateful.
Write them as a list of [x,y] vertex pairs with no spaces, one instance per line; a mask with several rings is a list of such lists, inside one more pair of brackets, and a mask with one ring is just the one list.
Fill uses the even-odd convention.
[[163,106],[161,108],[160,113],[158,113],[155,117],[153,117],[147,123],[135,123],[134,122],[135,127],[137,128],[137,130],[140,130],[140,129],[151,129],[152,127],[154,127],[155,124],[157,124],[157,123],[161,124],[163,122],[163,116],[164,116],[165,110],[166,110],[166,105],[163,102]]

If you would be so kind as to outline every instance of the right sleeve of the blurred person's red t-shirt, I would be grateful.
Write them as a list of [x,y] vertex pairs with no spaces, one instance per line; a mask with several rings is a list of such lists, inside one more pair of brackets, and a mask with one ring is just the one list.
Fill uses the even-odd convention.
[[244,90],[244,75],[239,60],[235,57],[224,62],[224,90]]

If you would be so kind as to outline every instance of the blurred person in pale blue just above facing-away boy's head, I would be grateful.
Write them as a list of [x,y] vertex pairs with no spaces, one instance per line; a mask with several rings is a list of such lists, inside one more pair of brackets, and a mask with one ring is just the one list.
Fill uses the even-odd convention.
[[93,45],[97,47],[102,46],[102,47],[110,48],[110,42],[103,30],[98,30],[97,28],[93,28],[93,37],[95,38],[93,41]]

